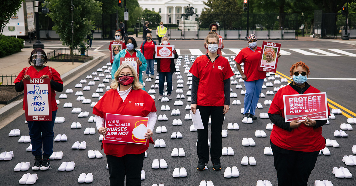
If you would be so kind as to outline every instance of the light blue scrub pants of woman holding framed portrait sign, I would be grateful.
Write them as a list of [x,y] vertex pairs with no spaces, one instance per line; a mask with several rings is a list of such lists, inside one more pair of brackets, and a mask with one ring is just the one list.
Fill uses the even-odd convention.
[[250,114],[255,115],[256,106],[262,91],[263,79],[255,81],[245,81],[246,94],[244,99],[244,115],[250,111]]

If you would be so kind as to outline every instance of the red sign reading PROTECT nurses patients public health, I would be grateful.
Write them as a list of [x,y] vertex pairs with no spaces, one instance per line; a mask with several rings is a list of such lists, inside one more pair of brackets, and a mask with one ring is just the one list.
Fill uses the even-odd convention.
[[313,120],[328,119],[326,92],[284,95],[283,102],[286,122],[302,120],[307,116]]

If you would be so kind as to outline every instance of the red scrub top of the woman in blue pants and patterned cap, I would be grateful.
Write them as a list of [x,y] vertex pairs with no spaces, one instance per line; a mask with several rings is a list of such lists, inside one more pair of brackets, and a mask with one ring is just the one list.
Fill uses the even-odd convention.
[[236,55],[236,63],[244,63],[244,74],[247,77],[246,81],[255,81],[266,78],[265,71],[258,71],[260,65],[261,47],[257,47],[253,52],[250,47],[243,48],[239,54]]

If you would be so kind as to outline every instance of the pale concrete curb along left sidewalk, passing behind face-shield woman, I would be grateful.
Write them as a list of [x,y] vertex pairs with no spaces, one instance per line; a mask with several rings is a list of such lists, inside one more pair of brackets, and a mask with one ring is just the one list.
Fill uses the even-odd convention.
[[[69,70],[68,72],[64,73],[61,75],[61,79],[64,81],[67,81],[68,79],[72,78],[74,75],[76,75],[78,72],[90,67],[92,64],[98,62],[100,59],[105,59],[105,54],[96,56],[92,60],[83,63],[79,65],[78,67],[75,67],[72,70]],[[12,115],[16,111],[22,109],[22,104],[23,104],[23,99],[14,101],[12,103],[9,103],[8,105],[0,108],[0,121],[5,119],[6,117]]]

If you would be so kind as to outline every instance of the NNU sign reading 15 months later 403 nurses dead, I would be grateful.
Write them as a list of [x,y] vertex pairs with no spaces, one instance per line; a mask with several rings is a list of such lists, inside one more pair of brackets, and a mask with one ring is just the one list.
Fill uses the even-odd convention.
[[51,79],[23,79],[23,104],[27,121],[52,121]]

